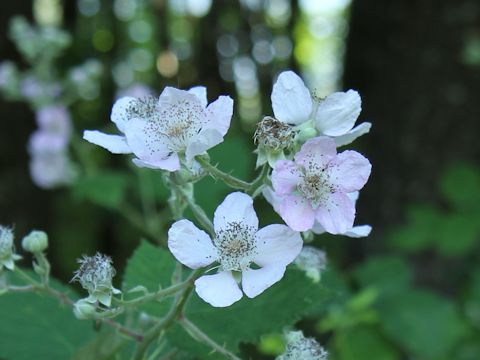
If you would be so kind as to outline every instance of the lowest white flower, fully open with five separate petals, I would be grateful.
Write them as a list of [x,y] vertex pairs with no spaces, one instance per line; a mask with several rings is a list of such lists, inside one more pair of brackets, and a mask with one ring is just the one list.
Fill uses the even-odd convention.
[[212,240],[188,220],[175,222],[168,232],[168,248],[191,269],[220,264],[218,273],[195,281],[197,294],[216,307],[240,300],[242,290],[249,298],[261,294],[283,277],[286,266],[302,249],[300,234],[286,225],[259,230],[253,200],[240,192],[225,198],[215,211],[213,224]]

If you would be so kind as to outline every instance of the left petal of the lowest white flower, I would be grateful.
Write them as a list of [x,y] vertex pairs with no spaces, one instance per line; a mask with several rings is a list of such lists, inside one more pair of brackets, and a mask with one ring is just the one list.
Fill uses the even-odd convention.
[[168,248],[183,265],[198,269],[217,260],[217,249],[205,231],[189,220],[175,222],[168,230]]

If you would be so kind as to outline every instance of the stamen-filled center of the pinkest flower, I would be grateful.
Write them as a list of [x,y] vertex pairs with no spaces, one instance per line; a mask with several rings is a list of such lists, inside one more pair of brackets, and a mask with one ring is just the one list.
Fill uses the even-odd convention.
[[325,170],[304,171],[297,185],[297,190],[305,199],[310,201],[310,205],[314,209],[326,200],[328,194],[335,191],[335,187],[330,183],[330,177]]

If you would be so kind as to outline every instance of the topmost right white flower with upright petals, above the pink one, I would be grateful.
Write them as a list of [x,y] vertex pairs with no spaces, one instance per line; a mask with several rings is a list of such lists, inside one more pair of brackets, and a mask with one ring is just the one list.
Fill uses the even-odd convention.
[[292,125],[312,122],[318,135],[334,138],[337,146],[351,143],[368,133],[372,126],[362,123],[353,127],[362,110],[358,92],[336,92],[320,99],[310,93],[303,80],[293,71],[284,71],[278,76],[271,100],[277,120]]

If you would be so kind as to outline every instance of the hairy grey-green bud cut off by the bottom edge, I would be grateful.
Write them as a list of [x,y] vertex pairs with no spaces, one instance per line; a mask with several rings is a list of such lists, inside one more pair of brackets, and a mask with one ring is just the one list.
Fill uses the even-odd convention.
[[285,352],[276,360],[327,360],[328,352],[313,338],[306,338],[301,331],[286,335]]

